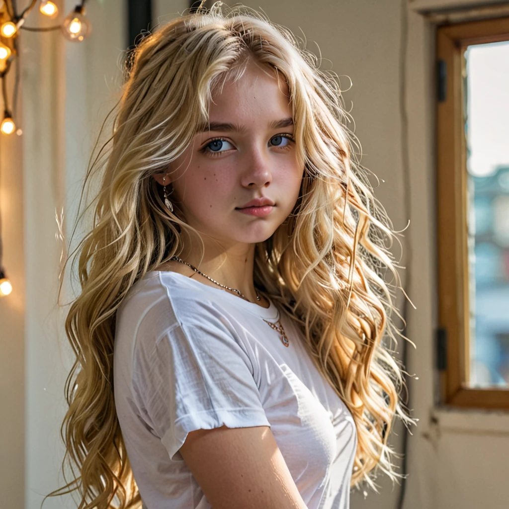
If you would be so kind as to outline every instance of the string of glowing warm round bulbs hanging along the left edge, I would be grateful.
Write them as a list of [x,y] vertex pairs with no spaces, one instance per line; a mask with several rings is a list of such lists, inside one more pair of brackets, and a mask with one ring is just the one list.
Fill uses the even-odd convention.
[[[17,135],[22,134],[20,128],[16,129],[16,124],[13,120],[13,115],[10,111],[9,101],[7,96],[7,83],[6,77],[11,68],[12,61],[17,56],[17,37],[20,29],[28,30],[31,32],[49,32],[52,30],[60,30],[64,37],[73,42],[80,42],[86,38],[92,31],[90,21],[85,17],[84,4],[86,0],[81,0],[74,10],[65,17],[61,24],[48,27],[31,27],[24,26],[25,18],[30,14],[32,9],[39,0],[31,0],[30,5],[23,9],[20,14],[16,13],[15,2],[3,2],[0,0],[0,19],[3,23],[0,25],[0,36],[5,40],[0,41],[0,80],[2,80],[2,96],[4,99],[4,119],[0,124],[0,136],[2,134],[9,135],[16,132]],[[41,0],[39,11],[44,16],[55,18],[59,14],[59,9],[54,2],[50,0]],[[16,65],[16,83],[18,81],[18,66]],[[15,86],[14,98],[17,97],[17,85]],[[14,107],[16,100],[14,99]],[[0,218],[1,219],[1,218]],[[13,288],[11,281],[6,276],[5,270],[2,266],[2,229],[0,222],[0,297],[9,295]]]

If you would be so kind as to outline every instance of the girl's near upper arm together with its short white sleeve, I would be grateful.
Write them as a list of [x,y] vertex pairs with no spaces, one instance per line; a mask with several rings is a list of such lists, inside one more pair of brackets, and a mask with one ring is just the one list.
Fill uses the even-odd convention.
[[180,323],[158,334],[154,348],[135,350],[140,412],[169,459],[180,453],[213,509],[306,509],[270,430],[256,357],[206,310],[200,324]]

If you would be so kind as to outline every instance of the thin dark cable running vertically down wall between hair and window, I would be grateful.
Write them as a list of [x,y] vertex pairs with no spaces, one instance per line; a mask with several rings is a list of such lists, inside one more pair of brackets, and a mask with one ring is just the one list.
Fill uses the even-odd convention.
[[[408,11],[407,11],[407,0],[401,1],[401,40],[400,40],[400,117],[401,117],[401,150],[402,150],[402,170],[403,170],[403,203],[404,211],[407,218],[410,218],[411,212],[411,201],[410,201],[410,161],[409,161],[409,150],[408,150],[408,116],[406,111],[406,51],[407,51],[407,39],[408,39]],[[407,267],[405,286],[406,294],[410,292],[412,283],[412,243],[410,242],[410,232],[408,229],[407,235],[405,235],[405,247],[407,249],[407,258],[405,266]],[[403,301],[402,318],[405,324],[405,330],[408,330],[408,297],[405,295]],[[403,354],[402,362],[404,367],[403,381],[407,391],[407,408],[410,405],[410,390],[408,387],[408,374],[407,363],[408,363],[408,341],[403,341]],[[407,476],[407,451],[408,451],[408,428],[404,426],[403,429],[403,458],[402,458],[402,480],[401,489],[398,498],[398,509],[403,509],[405,502],[405,491],[406,491],[406,476]]]

